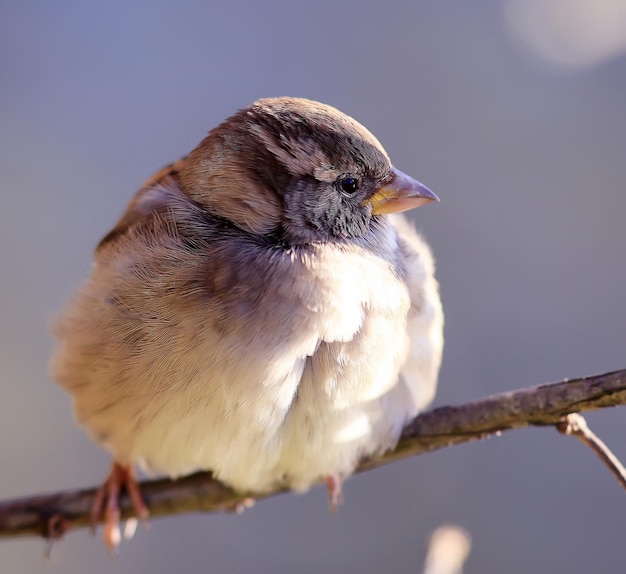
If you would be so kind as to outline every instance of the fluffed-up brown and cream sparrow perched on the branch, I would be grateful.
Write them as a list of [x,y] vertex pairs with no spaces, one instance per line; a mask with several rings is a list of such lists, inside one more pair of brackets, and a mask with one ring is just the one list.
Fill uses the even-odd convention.
[[136,192],[55,318],[51,377],[113,457],[92,522],[120,541],[136,469],[331,509],[433,400],[443,311],[401,214],[438,201],[338,109],[265,98]]

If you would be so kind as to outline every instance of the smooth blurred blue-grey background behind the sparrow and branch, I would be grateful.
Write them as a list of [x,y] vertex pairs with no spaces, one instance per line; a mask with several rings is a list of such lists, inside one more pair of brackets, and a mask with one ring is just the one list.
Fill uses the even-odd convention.
[[[50,317],[137,186],[259,97],[332,104],[442,201],[412,214],[446,310],[436,404],[626,366],[626,5],[619,0],[0,1],[0,498],[99,484],[109,458],[47,376]],[[626,409],[588,421],[626,459]],[[577,441],[521,430],[243,516],[86,531],[4,574],[623,570],[626,498]]]

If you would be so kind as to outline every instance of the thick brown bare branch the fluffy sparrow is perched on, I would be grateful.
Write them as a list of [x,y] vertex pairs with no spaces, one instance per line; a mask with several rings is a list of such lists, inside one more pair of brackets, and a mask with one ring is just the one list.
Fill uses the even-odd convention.
[[[395,450],[363,461],[357,472],[525,426],[552,425],[563,432],[563,424],[567,424],[570,413],[624,404],[626,369],[502,393],[455,407],[441,407],[415,418],[405,427]],[[578,434],[574,430],[570,433]],[[206,472],[177,481],[146,481],[141,489],[151,517],[232,511],[238,505],[245,505],[245,500],[251,496],[259,499],[285,492],[283,489],[262,495],[235,493]],[[88,526],[95,490],[65,491],[0,502],[0,538],[29,535],[56,538],[67,530]],[[132,515],[128,496],[122,497],[121,507],[123,517]]]

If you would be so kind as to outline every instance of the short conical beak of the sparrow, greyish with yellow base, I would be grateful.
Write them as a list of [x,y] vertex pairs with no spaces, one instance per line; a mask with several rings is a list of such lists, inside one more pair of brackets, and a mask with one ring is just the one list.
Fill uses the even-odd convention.
[[381,215],[406,211],[426,205],[431,201],[439,201],[439,198],[424,184],[394,168],[391,180],[379,188],[365,203],[372,206],[373,215]]

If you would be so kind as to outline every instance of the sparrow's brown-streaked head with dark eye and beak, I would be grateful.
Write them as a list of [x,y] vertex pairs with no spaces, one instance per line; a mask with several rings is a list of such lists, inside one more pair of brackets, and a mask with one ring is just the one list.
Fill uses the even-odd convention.
[[191,152],[180,176],[212,213],[290,244],[362,237],[377,216],[437,199],[357,121],[300,98],[240,110]]

